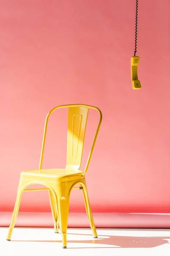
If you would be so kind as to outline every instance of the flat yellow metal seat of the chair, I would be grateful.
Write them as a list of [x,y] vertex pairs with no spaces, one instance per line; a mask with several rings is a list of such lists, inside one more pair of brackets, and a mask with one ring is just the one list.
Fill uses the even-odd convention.
[[[40,173],[39,173],[40,171]],[[70,169],[41,169],[21,172],[22,179],[66,182],[80,180],[82,171]]]

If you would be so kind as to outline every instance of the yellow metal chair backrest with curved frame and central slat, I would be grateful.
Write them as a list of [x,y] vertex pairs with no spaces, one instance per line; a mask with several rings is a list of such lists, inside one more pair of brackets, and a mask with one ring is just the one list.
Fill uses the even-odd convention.
[[91,146],[91,150],[88,156],[88,160],[85,166],[85,171],[83,175],[87,172],[88,165],[90,163],[91,155],[94,149],[94,145],[96,143],[96,138],[99,132],[99,128],[102,122],[102,112],[99,108],[89,106],[89,105],[62,105],[53,108],[47,115],[45,119],[45,127],[44,127],[44,135],[42,140],[42,150],[40,157],[40,166],[39,170],[42,169],[42,158],[44,153],[44,145],[45,145],[45,137],[47,131],[48,118],[52,112],[54,112],[58,108],[68,108],[68,132],[67,132],[67,162],[66,169],[79,170],[82,161],[82,151],[85,139],[85,130],[86,123],[88,119],[88,110],[94,109],[99,113],[99,123],[96,128],[96,133],[94,136],[94,140]]

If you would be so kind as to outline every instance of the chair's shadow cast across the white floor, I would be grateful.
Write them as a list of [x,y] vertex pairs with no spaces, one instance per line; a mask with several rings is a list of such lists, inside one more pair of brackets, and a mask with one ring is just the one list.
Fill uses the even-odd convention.
[[[74,234],[74,233],[68,233],[69,235],[78,235],[78,236],[91,236],[87,234]],[[169,241],[167,239],[170,239],[170,236],[159,236],[159,237],[145,237],[145,236],[105,236],[100,235],[98,236],[98,239],[92,239],[92,240],[68,240],[68,249],[87,249],[87,248],[152,248],[157,247],[162,244],[167,244]],[[14,240],[11,240],[14,241]],[[15,240],[19,241],[19,240]],[[26,240],[22,240],[26,242]],[[29,242],[62,242],[59,241],[29,241]],[[85,247],[69,247],[70,243],[79,243],[79,244],[86,244]],[[94,245],[94,246],[89,246]],[[96,246],[95,246],[96,245]],[[101,246],[100,246],[101,245]],[[106,245],[106,246],[105,246]]]

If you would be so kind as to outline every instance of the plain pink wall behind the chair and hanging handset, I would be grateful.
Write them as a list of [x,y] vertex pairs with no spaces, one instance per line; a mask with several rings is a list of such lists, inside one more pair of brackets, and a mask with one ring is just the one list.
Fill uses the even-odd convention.
[[[0,6],[0,211],[13,210],[20,172],[38,168],[48,111],[82,103],[103,113],[87,174],[92,210],[170,212],[170,1],[139,3],[139,91],[130,83],[135,0]],[[66,122],[58,118],[45,167],[65,164]],[[48,193],[24,194],[20,210],[50,211]],[[85,210],[78,191],[70,210]]]

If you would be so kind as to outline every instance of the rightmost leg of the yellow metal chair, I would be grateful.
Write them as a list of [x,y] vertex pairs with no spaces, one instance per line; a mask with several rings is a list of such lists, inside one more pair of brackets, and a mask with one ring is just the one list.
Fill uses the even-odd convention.
[[87,215],[88,215],[88,221],[89,221],[89,224],[90,224],[90,227],[91,227],[91,230],[92,230],[92,234],[93,234],[94,238],[97,238],[96,227],[95,227],[95,224],[94,224],[94,219],[93,219],[93,215],[92,215],[92,212],[91,212],[90,202],[89,202],[89,199],[88,199],[88,191],[87,191],[87,188],[86,188],[85,184],[83,186],[82,192],[83,192],[83,198],[84,198],[84,202],[85,202],[85,209],[86,209],[86,212],[87,212]]

